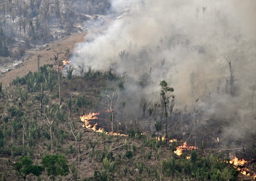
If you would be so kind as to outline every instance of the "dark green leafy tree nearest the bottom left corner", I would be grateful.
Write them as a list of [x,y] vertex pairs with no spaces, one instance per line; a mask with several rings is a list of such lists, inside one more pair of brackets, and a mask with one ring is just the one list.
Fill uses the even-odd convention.
[[44,167],[39,165],[33,165],[32,160],[28,158],[28,156],[20,156],[19,160],[19,162],[13,163],[13,167],[19,172],[24,180],[26,179],[27,175],[32,174],[38,177],[42,174]]

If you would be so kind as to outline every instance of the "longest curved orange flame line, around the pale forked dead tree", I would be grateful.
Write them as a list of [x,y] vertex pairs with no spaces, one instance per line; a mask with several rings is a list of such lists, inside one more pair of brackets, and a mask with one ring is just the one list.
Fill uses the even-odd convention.
[[[100,114],[99,112],[96,112],[96,113],[94,113],[94,112],[91,113],[90,112],[89,114],[81,116],[80,119],[81,119],[81,121],[84,122],[84,127],[86,127],[87,129],[92,129],[95,132],[103,133],[103,128],[97,128],[98,123],[92,125],[92,123],[90,121],[92,119],[99,119],[97,117],[97,115],[99,115],[99,114]],[[111,132],[106,132],[106,134],[111,135]],[[113,132],[113,135],[127,136],[126,134],[114,133],[114,132]]]

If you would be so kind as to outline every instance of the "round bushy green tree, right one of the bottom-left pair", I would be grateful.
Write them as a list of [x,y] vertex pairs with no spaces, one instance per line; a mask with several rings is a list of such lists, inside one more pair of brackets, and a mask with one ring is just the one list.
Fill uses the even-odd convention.
[[47,176],[55,180],[57,176],[67,176],[69,173],[68,160],[63,155],[45,155],[42,164],[47,171]]

